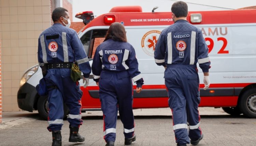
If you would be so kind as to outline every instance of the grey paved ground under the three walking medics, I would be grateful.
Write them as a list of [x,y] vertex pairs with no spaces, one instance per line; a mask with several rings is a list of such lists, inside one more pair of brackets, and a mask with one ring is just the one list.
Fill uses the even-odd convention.
[[[199,108],[200,126],[204,138],[198,146],[256,146],[256,119],[243,115],[231,116],[221,109]],[[169,108],[136,109],[135,134],[137,139],[131,146],[175,146]],[[69,123],[64,121],[61,130],[62,145],[104,146],[103,120],[101,111],[82,113],[84,124],[79,133],[85,136],[83,143],[70,143]],[[3,112],[0,124],[1,146],[49,146],[52,135],[47,131],[47,121],[38,113]],[[124,146],[123,125],[119,117],[116,126],[115,146]]]

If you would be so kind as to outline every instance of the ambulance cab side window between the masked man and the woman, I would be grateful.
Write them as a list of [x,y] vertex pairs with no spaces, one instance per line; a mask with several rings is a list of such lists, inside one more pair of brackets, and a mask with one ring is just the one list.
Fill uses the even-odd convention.
[[91,30],[91,31],[86,32],[81,37],[81,41],[84,46],[84,50],[90,60],[93,59],[98,45],[104,41],[107,31],[108,31],[107,29]]

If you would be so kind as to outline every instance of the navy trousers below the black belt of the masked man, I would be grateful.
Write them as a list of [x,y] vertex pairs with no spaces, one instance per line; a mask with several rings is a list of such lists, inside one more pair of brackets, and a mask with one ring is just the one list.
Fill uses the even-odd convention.
[[[68,122],[71,126],[80,127],[81,97],[79,83],[70,78],[70,69],[49,69],[45,75],[47,86],[57,86],[58,89],[48,89],[49,116],[47,129],[49,131],[61,130],[63,125],[63,103],[69,108]],[[62,121],[62,123],[60,122]]]

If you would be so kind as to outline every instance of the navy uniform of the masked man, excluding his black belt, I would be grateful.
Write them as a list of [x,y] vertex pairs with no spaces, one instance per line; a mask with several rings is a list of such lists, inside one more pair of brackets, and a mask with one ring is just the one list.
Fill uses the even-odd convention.
[[[47,63],[74,62],[76,61],[88,78],[91,72],[88,57],[76,32],[62,24],[55,23],[40,34],[38,39],[38,62],[40,67]],[[63,102],[68,106],[68,122],[71,126],[80,127],[81,98],[79,82],[72,81],[70,68],[48,69],[44,76],[47,86],[56,86],[57,89],[49,89],[49,115],[47,129],[49,131],[61,130],[63,125]]]

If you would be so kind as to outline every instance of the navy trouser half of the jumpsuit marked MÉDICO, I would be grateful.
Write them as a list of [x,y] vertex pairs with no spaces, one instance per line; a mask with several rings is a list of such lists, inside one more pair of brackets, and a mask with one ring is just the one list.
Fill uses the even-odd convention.
[[[165,84],[168,88],[168,104],[172,110],[176,143],[189,144],[189,138],[195,140],[201,137],[197,69],[189,65],[180,68],[167,66]],[[187,122],[191,125],[189,132]]]

